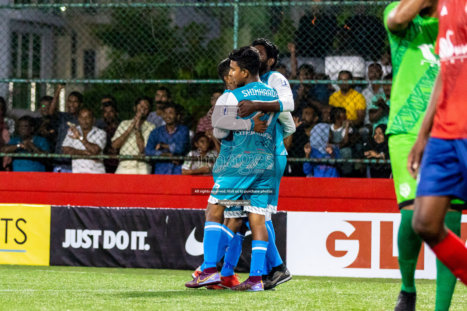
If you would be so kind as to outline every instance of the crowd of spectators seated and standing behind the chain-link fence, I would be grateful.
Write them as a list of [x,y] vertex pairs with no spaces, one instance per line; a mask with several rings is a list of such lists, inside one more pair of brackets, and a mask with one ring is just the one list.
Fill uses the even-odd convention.
[[[325,47],[324,47],[325,48]],[[315,73],[311,64],[297,68],[295,45],[289,44],[291,71],[278,70],[289,79],[295,100],[293,117],[297,131],[284,139],[289,157],[307,159],[389,159],[385,135],[389,117],[390,84],[351,84],[351,71],[338,74],[339,84],[308,84],[305,80],[329,79]],[[318,53],[318,52],[316,52]],[[295,62],[295,63],[294,63]],[[392,80],[383,76],[380,63],[367,68],[369,81]],[[83,96],[72,91],[66,100],[66,111],[57,111],[60,91],[54,97],[40,99],[40,117],[7,117],[5,100],[0,97],[0,148],[6,153],[57,153],[70,158],[2,159],[2,170],[118,173],[118,174],[184,174],[209,175],[220,150],[213,137],[207,116],[192,122],[183,106],[174,103],[170,90],[160,88],[155,97],[139,97],[133,103],[134,117],[120,120],[116,99],[100,98],[100,118],[86,108]],[[223,90],[212,94],[211,105]],[[207,103],[206,103],[207,104]],[[178,159],[147,161],[143,159],[80,159],[79,156],[190,156],[198,160]],[[389,178],[389,164],[366,165],[340,162],[290,162],[284,173],[308,177]]]

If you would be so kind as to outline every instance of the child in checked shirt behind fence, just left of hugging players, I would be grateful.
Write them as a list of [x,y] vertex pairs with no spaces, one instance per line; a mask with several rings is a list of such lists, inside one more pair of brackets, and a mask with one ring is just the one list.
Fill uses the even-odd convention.
[[[213,139],[217,142],[216,138]],[[218,153],[210,147],[210,140],[205,132],[196,133],[188,157],[198,157],[198,160],[185,161],[182,166],[182,175],[211,175],[212,166]]]

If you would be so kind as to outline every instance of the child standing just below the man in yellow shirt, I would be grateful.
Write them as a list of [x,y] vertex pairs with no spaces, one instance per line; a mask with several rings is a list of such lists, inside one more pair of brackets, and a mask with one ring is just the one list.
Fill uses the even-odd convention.
[[[333,107],[330,113],[331,130],[329,131],[329,142],[334,149],[339,149],[342,159],[352,159],[352,148],[349,146],[349,136],[353,129],[349,126],[347,112],[342,107]],[[340,169],[344,175],[352,173],[352,163],[343,163]]]

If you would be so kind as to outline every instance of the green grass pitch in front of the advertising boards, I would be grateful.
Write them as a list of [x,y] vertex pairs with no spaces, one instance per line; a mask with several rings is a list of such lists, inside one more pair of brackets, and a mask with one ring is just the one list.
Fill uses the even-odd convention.
[[[400,290],[394,279],[313,276],[294,276],[275,291],[191,290],[184,286],[191,272],[0,265],[0,310],[382,311],[394,310]],[[435,289],[417,280],[417,311],[434,310]],[[450,310],[467,310],[460,282]]]

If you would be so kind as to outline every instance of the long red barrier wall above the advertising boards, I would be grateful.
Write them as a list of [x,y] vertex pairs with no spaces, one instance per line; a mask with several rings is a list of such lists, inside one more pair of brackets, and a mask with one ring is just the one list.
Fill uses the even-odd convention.
[[[0,203],[107,207],[205,208],[212,177],[0,172]],[[279,210],[395,213],[394,184],[385,179],[284,177]]]

